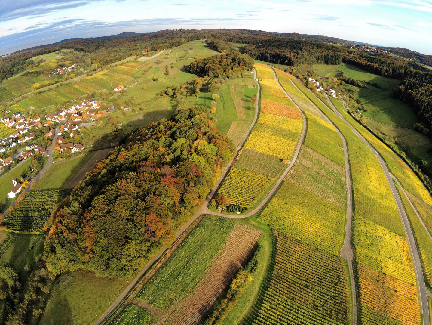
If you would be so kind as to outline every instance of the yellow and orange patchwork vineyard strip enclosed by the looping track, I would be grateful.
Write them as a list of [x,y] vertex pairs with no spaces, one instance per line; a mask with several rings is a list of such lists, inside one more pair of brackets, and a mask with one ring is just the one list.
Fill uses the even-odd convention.
[[[273,71],[257,64],[259,78],[273,78]],[[232,204],[251,209],[262,199],[270,186],[282,175],[291,159],[302,132],[303,121],[299,110],[291,102],[276,80],[264,79],[261,85],[261,112],[243,151],[216,195],[223,194]]]

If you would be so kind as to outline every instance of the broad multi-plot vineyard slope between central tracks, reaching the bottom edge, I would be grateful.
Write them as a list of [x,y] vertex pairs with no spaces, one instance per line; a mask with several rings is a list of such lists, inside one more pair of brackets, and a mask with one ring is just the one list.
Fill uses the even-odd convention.
[[[349,324],[351,317],[348,273],[339,257],[346,209],[341,141],[330,124],[306,116],[300,156],[259,217],[275,233],[278,248],[257,325]],[[315,143],[320,133],[330,139],[321,146]]]

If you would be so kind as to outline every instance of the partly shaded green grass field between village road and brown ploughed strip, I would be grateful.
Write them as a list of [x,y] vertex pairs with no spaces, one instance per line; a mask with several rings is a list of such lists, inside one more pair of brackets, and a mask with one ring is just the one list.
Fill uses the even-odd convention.
[[73,159],[57,162],[50,166],[45,174],[39,179],[36,191],[60,190],[67,184],[69,179],[75,175],[79,168],[90,159],[94,152]]

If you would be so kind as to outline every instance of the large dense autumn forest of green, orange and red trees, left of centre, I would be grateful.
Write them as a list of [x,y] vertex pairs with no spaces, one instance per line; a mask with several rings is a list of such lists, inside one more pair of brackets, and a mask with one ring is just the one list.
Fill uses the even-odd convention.
[[196,212],[231,158],[208,108],[153,122],[99,162],[45,239],[48,269],[130,279]]

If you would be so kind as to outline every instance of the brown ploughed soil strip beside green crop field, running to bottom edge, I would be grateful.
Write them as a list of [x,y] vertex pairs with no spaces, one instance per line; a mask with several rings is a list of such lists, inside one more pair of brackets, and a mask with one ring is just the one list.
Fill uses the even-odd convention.
[[231,282],[261,232],[237,223],[195,289],[194,295],[173,305],[156,325],[196,325]]

